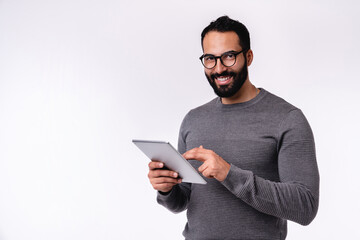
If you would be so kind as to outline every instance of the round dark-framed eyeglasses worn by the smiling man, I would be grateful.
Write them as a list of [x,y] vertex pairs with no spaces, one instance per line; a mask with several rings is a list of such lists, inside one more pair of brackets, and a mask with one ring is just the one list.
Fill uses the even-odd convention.
[[231,67],[234,66],[236,63],[236,56],[240,53],[242,53],[244,50],[241,50],[240,52],[235,51],[229,51],[221,54],[221,56],[214,56],[212,54],[205,54],[202,55],[199,59],[201,63],[204,65],[205,68],[211,69],[216,66],[217,59],[220,59],[220,62],[225,67]]

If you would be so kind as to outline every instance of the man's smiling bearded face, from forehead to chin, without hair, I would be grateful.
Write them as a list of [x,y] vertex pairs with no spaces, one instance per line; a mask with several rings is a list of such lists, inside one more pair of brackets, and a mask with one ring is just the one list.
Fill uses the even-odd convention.
[[[235,32],[208,32],[203,40],[204,54],[220,56],[229,51],[243,50],[239,44],[239,37]],[[226,67],[217,59],[212,69],[205,68],[205,75],[214,92],[219,97],[232,97],[242,87],[248,77],[247,62],[243,53],[236,56],[236,62]]]

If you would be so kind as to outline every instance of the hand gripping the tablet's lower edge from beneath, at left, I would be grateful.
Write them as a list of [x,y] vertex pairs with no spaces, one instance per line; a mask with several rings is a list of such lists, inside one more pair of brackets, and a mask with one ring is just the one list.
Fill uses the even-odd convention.
[[171,189],[178,183],[181,183],[181,178],[177,172],[163,169],[164,163],[151,161],[149,163],[149,180],[155,190],[160,192],[170,192]]

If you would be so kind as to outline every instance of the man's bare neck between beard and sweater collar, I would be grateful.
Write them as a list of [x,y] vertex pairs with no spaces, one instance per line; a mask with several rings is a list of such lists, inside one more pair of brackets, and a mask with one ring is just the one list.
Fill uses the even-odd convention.
[[240,90],[232,97],[221,98],[223,104],[234,104],[247,102],[256,97],[259,90],[247,79]]

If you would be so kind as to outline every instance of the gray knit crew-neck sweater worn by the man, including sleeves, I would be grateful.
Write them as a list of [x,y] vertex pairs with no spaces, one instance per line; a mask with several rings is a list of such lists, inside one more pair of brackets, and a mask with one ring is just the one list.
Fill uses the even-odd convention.
[[181,183],[157,197],[172,212],[187,209],[186,239],[282,240],[286,220],[307,225],[314,219],[314,138],[298,108],[265,89],[245,103],[224,105],[215,98],[191,110],[181,125],[179,152],[200,145],[231,164],[226,179]]

